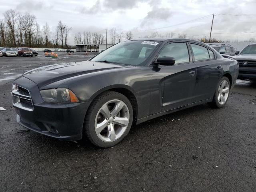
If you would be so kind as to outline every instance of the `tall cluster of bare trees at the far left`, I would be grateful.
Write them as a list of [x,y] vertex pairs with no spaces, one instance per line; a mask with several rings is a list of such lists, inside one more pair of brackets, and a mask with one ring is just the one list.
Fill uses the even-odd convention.
[[48,23],[40,26],[36,16],[10,9],[0,20],[0,46],[68,48],[68,33],[72,28],[58,21],[56,29],[50,30]]

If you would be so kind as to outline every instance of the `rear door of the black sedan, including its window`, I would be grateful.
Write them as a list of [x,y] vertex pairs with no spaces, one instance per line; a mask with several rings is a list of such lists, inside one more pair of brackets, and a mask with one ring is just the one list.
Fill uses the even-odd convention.
[[197,71],[196,86],[192,99],[194,103],[213,97],[219,80],[221,65],[218,64],[214,52],[206,46],[194,42],[190,42],[190,46]]

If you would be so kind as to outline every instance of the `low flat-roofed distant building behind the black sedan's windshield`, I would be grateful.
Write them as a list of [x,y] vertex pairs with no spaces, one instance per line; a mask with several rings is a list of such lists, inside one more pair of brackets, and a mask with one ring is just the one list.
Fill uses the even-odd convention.
[[[107,48],[114,44],[107,44]],[[106,44],[77,44],[76,52],[101,52],[106,49]]]

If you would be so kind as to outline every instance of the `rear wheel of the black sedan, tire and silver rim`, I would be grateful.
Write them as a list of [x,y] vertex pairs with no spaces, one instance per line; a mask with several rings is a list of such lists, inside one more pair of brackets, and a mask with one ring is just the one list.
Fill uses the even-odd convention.
[[214,108],[222,108],[228,101],[230,93],[230,82],[227,77],[222,77],[217,84],[212,102],[208,103]]

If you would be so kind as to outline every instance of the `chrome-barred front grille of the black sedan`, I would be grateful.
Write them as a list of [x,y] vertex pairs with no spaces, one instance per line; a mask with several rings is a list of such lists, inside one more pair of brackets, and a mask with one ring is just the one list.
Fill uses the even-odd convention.
[[12,104],[17,108],[33,111],[33,103],[27,89],[18,86],[17,90],[12,91]]

